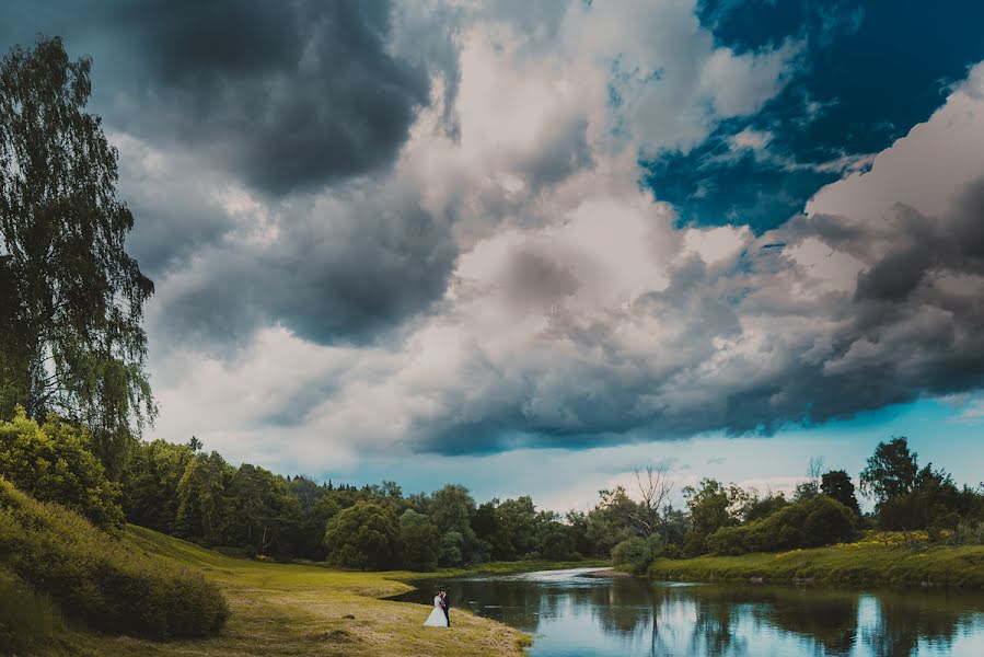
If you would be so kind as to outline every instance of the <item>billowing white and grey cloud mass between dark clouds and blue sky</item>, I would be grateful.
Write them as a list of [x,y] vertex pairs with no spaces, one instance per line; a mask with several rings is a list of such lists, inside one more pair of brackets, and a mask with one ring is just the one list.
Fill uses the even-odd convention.
[[[950,327],[939,299],[926,296],[905,321],[863,318],[877,335],[858,325],[852,304],[859,275],[912,237],[883,220],[892,204],[915,195],[917,209],[946,215],[954,194],[984,175],[976,82],[871,172],[822,189],[808,217],[754,239],[743,226],[678,229],[672,208],[639,191],[637,148],[687,148],[722,116],[754,111],[780,89],[795,48],[716,48],[685,2],[571,9],[556,30],[467,26],[459,138],[441,130],[442,107],[425,111],[385,175],[283,206],[213,195],[225,215],[254,217],[267,239],[219,240],[159,280],[149,313],[158,434],[194,433],[230,454],[322,469],[410,450],[751,430],[802,417],[814,401],[825,419],[899,399],[888,385],[866,389],[870,399],[842,389],[892,349],[901,392],[928,387],[939,347],[904,351],[913,356],[905,362],[898,349]],[[537,39],[547,37],[559,47],[544,54]],[[630,73],[614,81],[623,94],[614,108],[613,61]],[[743,139],[765,143],[762,135]],[[400,214],[413,204],[426,215],[419,228]],[[431,242],[454,257],[431,257]],[[285,244],[299,257],[270,257]],[[322,313],[305,315],[305,328],[331,322],[344,302],[331,287],[334,269],[294,275],[348,262],[359,244],[385,250],[351,258],[357,283],[382,272],[403,285],[418,268],[447,265],[447,286],[368,345],[315,345],[289,318],[276,323],[279,297],[302,285]],[[283,287],[256,285],[285,272]],[[194,342],[153,346],[175,334],[176,300],[243,279],[228,314],[207,309],[222,335],[246,332],[234,359]],[[951,295],[981,289],[973,277],[939,280]]]

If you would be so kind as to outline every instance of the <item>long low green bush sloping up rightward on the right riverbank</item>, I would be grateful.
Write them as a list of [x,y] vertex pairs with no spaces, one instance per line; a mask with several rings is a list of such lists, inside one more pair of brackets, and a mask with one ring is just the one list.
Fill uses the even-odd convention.
[[817,495],[762,520],[718,529],[707,537],[707,546],[718,554],[814,548],[849,540],[855,523],[850,509],[826,495]]

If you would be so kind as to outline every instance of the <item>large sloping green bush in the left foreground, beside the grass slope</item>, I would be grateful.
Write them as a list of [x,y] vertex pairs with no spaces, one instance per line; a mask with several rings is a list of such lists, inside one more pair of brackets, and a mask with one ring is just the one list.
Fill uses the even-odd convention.
[[229,608],[201,575],[128,549],[0,477],[0,565],[94,629],[154,638],[218,632]]

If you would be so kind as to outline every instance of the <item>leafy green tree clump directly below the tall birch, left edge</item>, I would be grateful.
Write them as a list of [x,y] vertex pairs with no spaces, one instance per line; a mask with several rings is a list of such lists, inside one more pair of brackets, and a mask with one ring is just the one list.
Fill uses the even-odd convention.
[[38,426],[19,407],[12,422],[0,420],[0,475],[36,499],[65,505],[100,527],[118,527],[119,486],[106,479],[89,446],[85,429],[55,415]]

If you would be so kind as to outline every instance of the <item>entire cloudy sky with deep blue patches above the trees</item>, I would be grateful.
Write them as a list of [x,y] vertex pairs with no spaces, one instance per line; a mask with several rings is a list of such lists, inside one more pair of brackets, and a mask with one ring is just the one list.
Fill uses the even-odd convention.
[[588,508],[984,459],[984,4],[13,0],[93,59],[146,438]]

